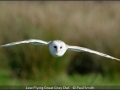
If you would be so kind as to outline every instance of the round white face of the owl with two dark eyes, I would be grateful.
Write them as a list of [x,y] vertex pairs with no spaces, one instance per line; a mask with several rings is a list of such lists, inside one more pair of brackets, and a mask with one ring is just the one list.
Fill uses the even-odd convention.
[[53,56],[60,57],[60,56],[63,56],[64,53],[66,52],[67,46],[63,41],[54,40],[50,42],[49,50]]

